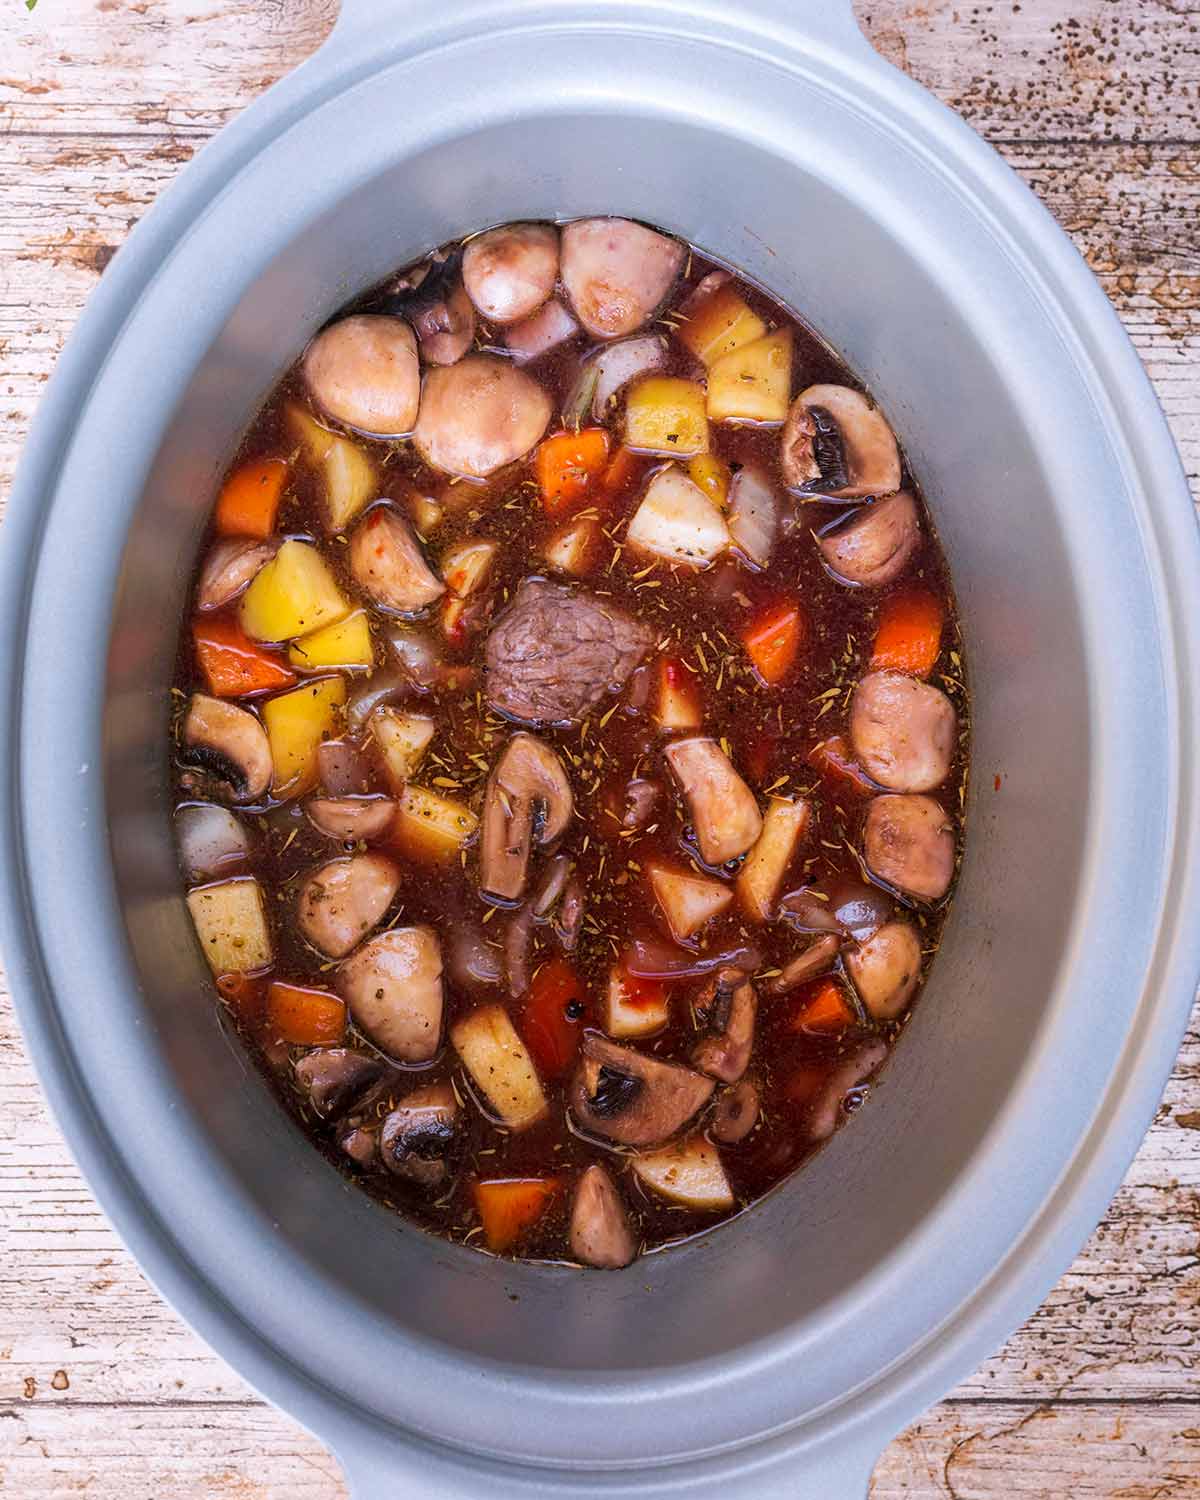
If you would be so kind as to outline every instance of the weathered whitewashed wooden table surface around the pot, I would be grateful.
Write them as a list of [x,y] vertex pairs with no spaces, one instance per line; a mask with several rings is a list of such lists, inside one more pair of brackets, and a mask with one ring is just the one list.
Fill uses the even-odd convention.
[[[321,42],[334,10],[0,0],[0,495],[116,248],[204,140]],[[860,16],[1071,234],[1155,381],[1197,494],[1196,0],[860,0]],[[1200,1496],[1198,1076],[1194,1017],[1104,1222],[1026,1326],[891,1444],[876,1500]],[[142,1280],[46,1114],[2,986],[0,1494],[345,1496],[321,1446]]]

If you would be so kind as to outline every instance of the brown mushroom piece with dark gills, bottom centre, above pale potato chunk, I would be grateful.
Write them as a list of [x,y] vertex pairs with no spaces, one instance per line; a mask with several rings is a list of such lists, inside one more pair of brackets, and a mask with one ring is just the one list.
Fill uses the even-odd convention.
[[618,1146],[657,1146],[708,1104],[716,1083],[678,1062],[588,1032],[567,1102],[574,1122]]

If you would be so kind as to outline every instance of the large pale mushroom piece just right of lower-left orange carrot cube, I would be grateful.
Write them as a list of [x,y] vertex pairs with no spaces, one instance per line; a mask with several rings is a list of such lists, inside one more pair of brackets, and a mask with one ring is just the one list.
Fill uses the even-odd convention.
[[441,948],[432,927],[390,927],[338,970],[354,1024],[398,1062],[429,1062],[441,1042]]

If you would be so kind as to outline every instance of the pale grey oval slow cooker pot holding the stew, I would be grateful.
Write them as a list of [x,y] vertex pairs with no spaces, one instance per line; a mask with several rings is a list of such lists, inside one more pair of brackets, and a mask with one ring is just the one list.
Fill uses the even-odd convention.
[[[218,1024],[164,754],[214,480],[312,330],[440,240],[585,213],[744,267],[866,376],[975,688],[962,888],[885,1083],[753,1212],[616,1275],[405,1230],[306,1144]],[[0,585],[4,944],[46,1094],[164,1294],[357,1496],[862,1496],[1150,1120],[1200,970],[1188,492],[1082,261],[846,0],[346,0],[106,270]]]

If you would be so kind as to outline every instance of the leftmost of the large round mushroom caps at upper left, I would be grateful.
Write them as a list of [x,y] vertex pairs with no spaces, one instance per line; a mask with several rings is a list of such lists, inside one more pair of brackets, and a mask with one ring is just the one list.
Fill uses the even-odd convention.
[[402,318],[342,318],[316,334],[302,368],[316,405],[348,428],[381,438],[412,430],[420,363],[417,339]]

